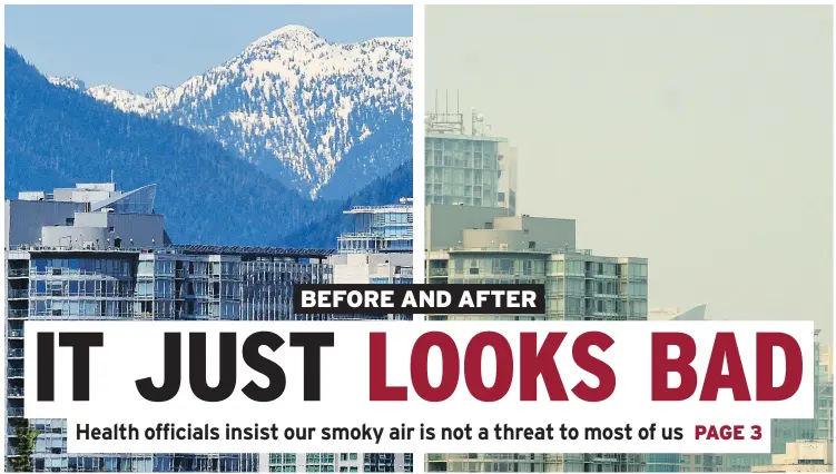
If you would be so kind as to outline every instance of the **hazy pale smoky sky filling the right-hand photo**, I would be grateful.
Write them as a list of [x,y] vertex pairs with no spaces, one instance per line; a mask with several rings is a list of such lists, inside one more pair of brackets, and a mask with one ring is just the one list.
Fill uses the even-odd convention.
[[650,307],[832,338],[832,23],[830,7],[430,7],[426,107],[459,89],[518,146],[519,213],[649,258]]

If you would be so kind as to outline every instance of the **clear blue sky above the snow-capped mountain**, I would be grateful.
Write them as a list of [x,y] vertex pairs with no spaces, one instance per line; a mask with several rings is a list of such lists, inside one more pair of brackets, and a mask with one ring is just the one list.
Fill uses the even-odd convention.
[[332,42],[412,36],[411,6],[7,6],[6,45],[47,76],[178,86],[285,24]]

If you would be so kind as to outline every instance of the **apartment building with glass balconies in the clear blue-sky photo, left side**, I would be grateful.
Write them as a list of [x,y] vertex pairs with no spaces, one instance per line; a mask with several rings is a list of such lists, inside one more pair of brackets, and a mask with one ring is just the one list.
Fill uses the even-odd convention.
[[154,189],[79,185],[7,201],[7,461],[18,454],[13,427],[24,424],[40,433],[38,472],[258,470],[258,454],[71,454],[65,419],[23,418],[27,319],[331,317],[295,315],[293,285],[331,283],[332,250],[170,245]]

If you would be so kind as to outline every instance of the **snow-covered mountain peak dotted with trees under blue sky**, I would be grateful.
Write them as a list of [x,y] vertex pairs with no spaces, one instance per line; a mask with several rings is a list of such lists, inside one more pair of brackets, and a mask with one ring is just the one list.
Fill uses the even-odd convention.
[[[312,197],[337,170],[357,175],[338,180],[345,194],[411,158],[411,38],[334,45],[287,26],[175,88],[137,95],[50,80],[120,110],[209,134]],[[392,140],[399,145],[387,145]],[[337,168],[343,160],[351,162]]]

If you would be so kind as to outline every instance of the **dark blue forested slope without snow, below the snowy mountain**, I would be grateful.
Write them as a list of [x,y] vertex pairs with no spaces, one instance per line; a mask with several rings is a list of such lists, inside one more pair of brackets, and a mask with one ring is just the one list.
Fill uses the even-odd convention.
[[[112,169],[122,190],[157,184],[156,211],[166,216],[175,243],[302,246],[305,240],[293,236],[306,228],[328,247],[338,231],[331,235],[333,229],[315,224],[352,201],[311,201],[196,131],[50,83],[8,47],[4,93],[7,198],[20,190],[107,181]],[[411,195],[412,165],[404,166]],[[366,188],[368,201],[357,204],[396,199],[387,190],[395,181],[375,181]],[[276,241],[281,236],[288,237]]]

